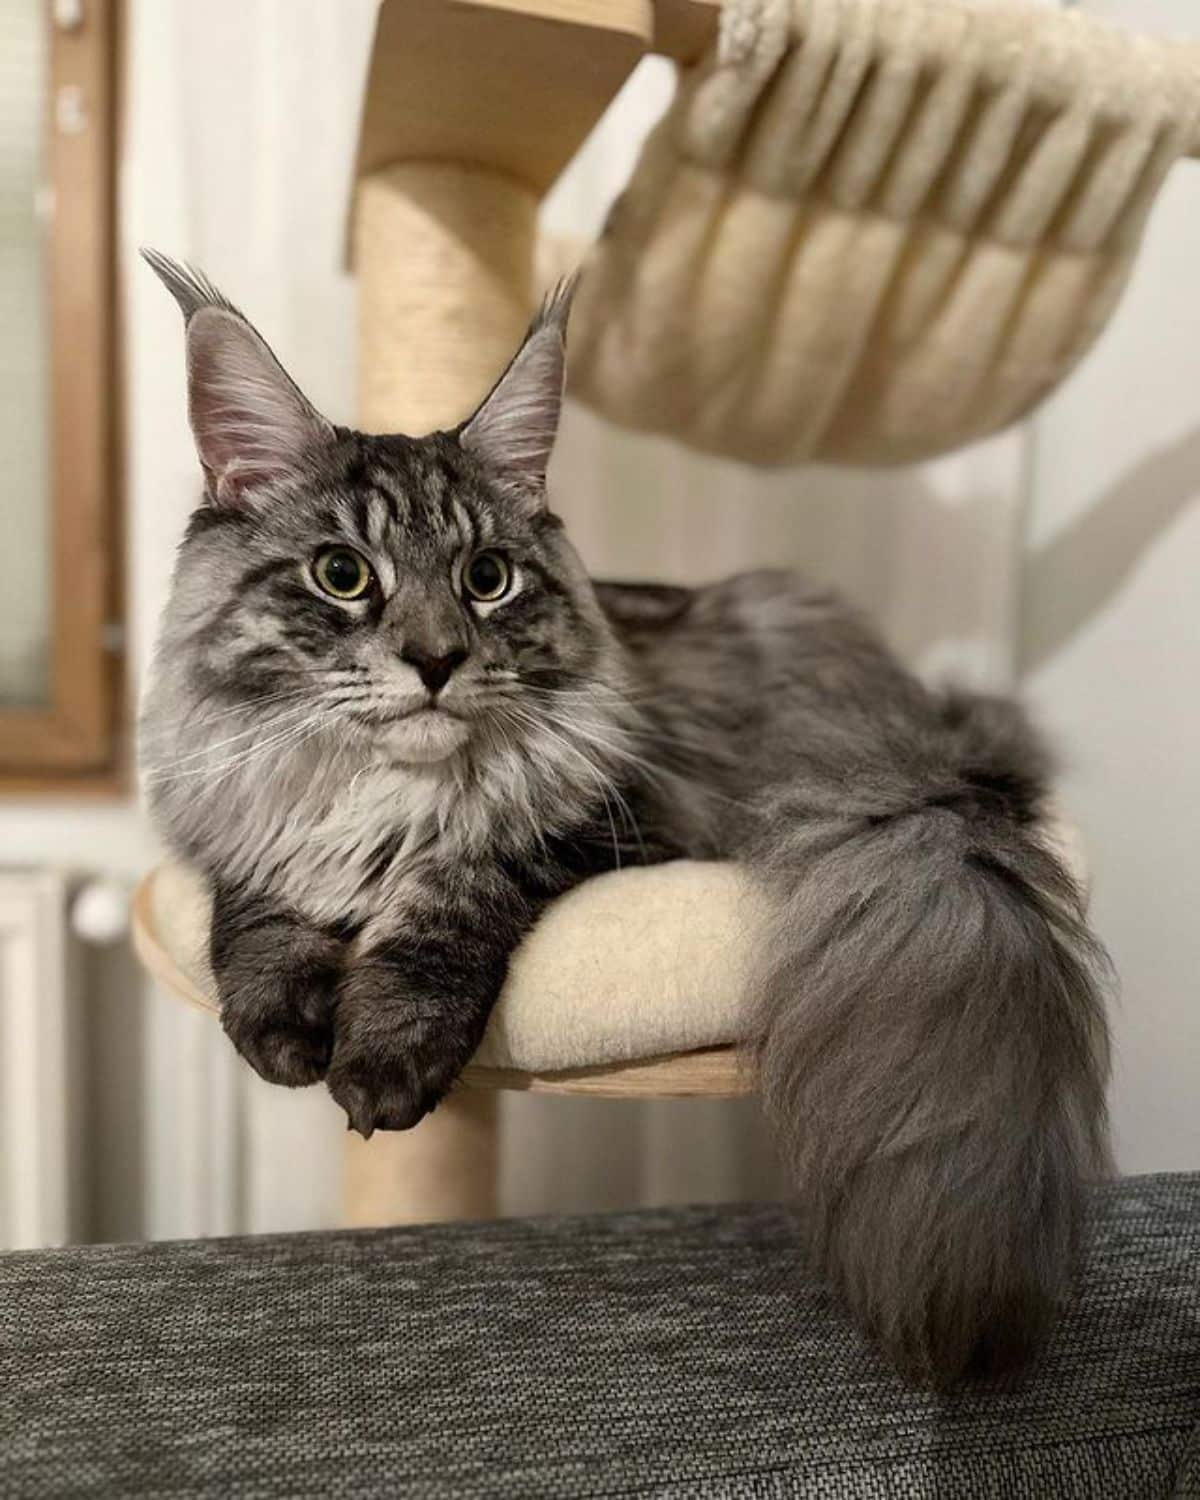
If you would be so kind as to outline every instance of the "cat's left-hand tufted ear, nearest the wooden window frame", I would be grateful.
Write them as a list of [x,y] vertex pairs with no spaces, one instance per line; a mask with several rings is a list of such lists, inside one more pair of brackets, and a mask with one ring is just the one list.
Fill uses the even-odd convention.
[[258,330],[213,286],[158,250],[142,256],[176,298],[188,328],[188,417],[219,506],[296,472],[333,428],[272,354]]

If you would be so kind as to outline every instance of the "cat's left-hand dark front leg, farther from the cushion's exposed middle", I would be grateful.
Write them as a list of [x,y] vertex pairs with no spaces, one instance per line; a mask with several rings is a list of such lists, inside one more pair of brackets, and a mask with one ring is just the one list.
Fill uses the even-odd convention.
[[220,1024],[250,1066],[291,1088],[322,1078],[345,939],[262,897],[218,886],[210,951]]

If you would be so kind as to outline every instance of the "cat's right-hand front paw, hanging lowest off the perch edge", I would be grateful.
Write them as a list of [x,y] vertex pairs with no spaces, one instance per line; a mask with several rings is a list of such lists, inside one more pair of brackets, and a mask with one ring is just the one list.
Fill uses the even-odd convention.
[[351,1130],[411,1130],[438,1104],[478,1041],[454,1020],[405,994],[394,972],[346,976],[326,1083]]

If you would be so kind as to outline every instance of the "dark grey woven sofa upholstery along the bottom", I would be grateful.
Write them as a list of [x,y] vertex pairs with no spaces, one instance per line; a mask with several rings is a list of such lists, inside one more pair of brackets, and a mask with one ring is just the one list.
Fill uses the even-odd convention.
[[1200,1176],[1096,1221],[1036,1370],[954,1396],[880,1365],[777,1206],[10,1254],[0,1494],[1194,1494]]

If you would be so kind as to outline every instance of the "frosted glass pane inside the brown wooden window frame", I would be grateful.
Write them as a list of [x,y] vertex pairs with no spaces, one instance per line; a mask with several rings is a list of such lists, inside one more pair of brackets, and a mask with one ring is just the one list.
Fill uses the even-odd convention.
[[50,684],[45,0],[0,0],[0,704]]

